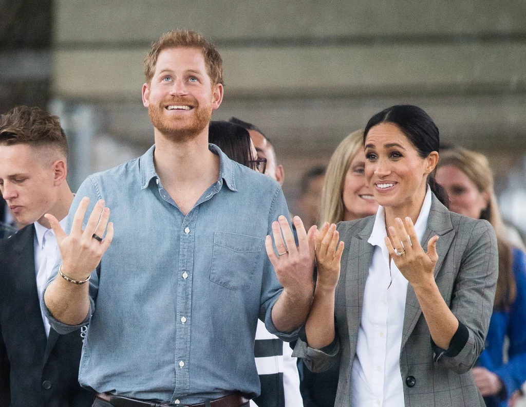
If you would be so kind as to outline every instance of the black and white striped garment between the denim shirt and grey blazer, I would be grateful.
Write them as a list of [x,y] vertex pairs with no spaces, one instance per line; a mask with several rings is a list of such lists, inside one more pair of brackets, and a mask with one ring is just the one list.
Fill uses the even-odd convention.
[[254,344],[261,394],[250,402],[257,407],[302,407],[296,358],[288,343],[281,341],[258,320]]

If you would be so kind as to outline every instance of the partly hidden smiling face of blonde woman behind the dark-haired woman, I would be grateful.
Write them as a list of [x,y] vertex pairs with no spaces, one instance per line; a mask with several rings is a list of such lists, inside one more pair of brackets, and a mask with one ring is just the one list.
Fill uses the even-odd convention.
[[363,148],[352,159],[343,182],[343,219],[352,221],[373,215],[378,202],[372,195],[365,178],[365,153]]

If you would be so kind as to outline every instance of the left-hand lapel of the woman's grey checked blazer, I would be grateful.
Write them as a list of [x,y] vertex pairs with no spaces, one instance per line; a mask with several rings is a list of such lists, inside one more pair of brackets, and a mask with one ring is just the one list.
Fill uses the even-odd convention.
[[[346,295],[349,296],[347,303],[352,304],[347,307],[347,326],[349,330],[351,354],[353,354],[353,349],[356,349],[356,342],[358,340],[358,327],[360,326],[363,306],[363,292],[365,291],[365,283],[369,275],[369,267],[374,250],[374,246],[367,242],[374,224],[375,217],[373,216],[363,230],[356,236],[351,237],[349,255],[345,267],[345,270],[347,270],[345,291]],[[353,272],[353,270],[356,270],[357,265],[357,272]]]

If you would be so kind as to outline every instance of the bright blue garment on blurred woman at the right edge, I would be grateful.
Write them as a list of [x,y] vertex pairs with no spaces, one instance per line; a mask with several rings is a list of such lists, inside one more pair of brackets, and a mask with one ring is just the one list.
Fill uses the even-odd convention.
[[[517,297],[508,311],[493,311],[486,348],[477,365],[497,374],[504,384],[502,394],[484,397],[487,407],[506,407],[508,399],[526,381],[526,255],[513,248],[513,274]],[[504,363],[504,338],[509,337],[508,363]]]

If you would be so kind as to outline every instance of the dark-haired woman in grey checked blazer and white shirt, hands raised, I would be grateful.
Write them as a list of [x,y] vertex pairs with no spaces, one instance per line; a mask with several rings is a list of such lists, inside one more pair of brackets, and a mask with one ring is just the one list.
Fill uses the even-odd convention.
[[318,233],[316,291],[295,355],[317,371],[340,359],[337,407],[483,406],[471,367],[497,282],[493,228],[440,202],[439,132],[420,108],[374,115],[364,145],[380,206]]

